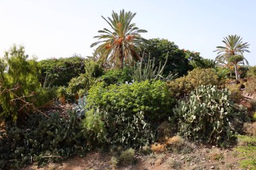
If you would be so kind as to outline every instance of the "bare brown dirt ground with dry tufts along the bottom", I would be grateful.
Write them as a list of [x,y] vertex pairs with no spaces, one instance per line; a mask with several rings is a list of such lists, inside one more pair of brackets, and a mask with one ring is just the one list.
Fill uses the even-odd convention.
[[[49,163],[40,168],[31,165],[23,170],[82,170],[82,169],[113,169],[110,163],[111,156],[99,151],[90,152],[84,158],[75,157],[63,163]],[[192,153],[176,154],[170,151],[148,156],[138,156],[137,163],[117,169],[240,169],[238,153],[232,148],[220,149],[214,146],[197,146]]]

